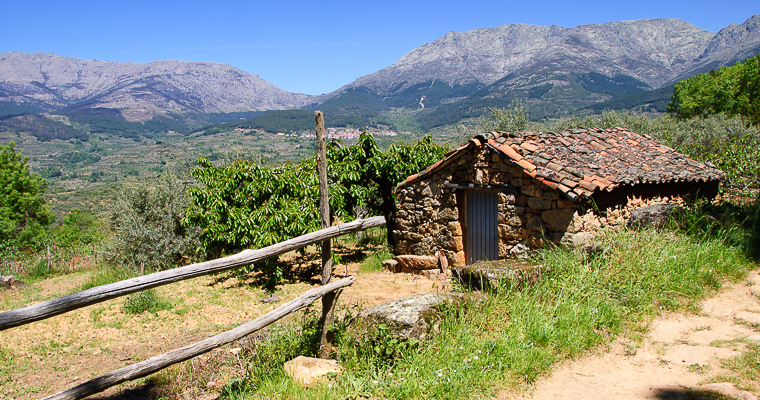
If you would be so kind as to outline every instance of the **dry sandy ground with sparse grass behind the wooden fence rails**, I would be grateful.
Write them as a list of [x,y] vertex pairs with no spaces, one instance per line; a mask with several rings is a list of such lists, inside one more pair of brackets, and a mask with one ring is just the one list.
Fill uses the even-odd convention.
[[[119,298],[2,331],[0,364],[3,359],[12,362],[5,367],[0,365],[0,398],[44,397],[244,324],[319,284],[316,263],[307,262],[297,267],[301,269],[294,274],[301,279],[290,276],[291,283],[275,291],[281,299],[279,302],[261,302],[270,293],[250,281],[206,276],[157,288],[158,294],[173,304],[170,310],[127,314],[122,311],[124,299]],[[359,273],[358,268],[357,262],[348,262],[334,269],[334,279],[356,276],[354,284],[339,298],[339,307],[344,310],[359,310],[405,296],[447,290],[449,285],[448,279],[435,281],[386,271]],[[34,284],[30,290],[2,291],[0,311],[71,293],[88,277],[88,273],[59,276]],[[319,302],[315,304],[313,307],[320,307]],[[289,318],[278,323],[288,323]],[[298,317],[294,314],[292,318]],[[234,360],[236,354],[229,352],[229,346],[196,358],[192,365],[198,366],[204,359],[218,359],[220,355],[225,358],[220,362],[226,368],[225,373],[218,374],[213,382],[203,382],[201,386],[208,386],[209,390],[188,393],[187,398],[214,398],[217,394],[214,389],[234,378],[231,375],[235,373],[234,362],[230,359]],[[122,384],[95,397],[112,398],[119,391],[138,385],[139,382]]]

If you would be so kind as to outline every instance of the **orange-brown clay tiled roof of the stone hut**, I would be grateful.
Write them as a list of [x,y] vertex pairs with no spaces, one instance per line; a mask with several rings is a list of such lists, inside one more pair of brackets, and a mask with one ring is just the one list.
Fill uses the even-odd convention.
[[649,136],[624,128],[588,128],[479,135],[399,186],[425,178],[459,158],[467,149],[483,145],[571,199],[611,191],[622,185],[707,182],[724,176],[719,169],[694,161]]

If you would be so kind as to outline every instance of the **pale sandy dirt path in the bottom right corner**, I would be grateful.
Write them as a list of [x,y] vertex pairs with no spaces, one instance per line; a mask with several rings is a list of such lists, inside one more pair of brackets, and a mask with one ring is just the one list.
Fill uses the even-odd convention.
[[757,271],[702,302],[699,315],[663,315],[641,342],[619,339],[605,353],[557,367],[528,393],[498,398],[756,400],[760,387],[737,389],[727,382],[737,374],[721,362],[741,356],[751,342],[760,342]]

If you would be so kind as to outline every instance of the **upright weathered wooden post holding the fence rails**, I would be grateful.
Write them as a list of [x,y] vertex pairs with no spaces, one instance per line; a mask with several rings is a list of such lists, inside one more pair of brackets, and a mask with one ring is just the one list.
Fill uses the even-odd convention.
[[[322,111],[314,112],[314,133],[317,137],[317,173],[319,175],[319,214],[322,229],[330,227],[330,199],[327,191],[327,148],[325,144],[325,119]],[[322,242],[322,284],[332,278],[332,246],[330,239]],[[340,291],[322,296],[322,335],[319,340],[319,355],[326,358],[332,353],[333,334],[329,327],[335,320],[335,300]]]

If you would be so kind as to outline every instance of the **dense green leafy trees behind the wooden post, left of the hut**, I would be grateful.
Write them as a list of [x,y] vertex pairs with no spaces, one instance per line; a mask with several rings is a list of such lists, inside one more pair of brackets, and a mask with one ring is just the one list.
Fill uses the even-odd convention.
[[[332,213],[341,220],[382,214],[392,224],[396,184],[443,157],[430,137],[387,152],[364,132],[356,145],[328,147],[328,179]],[[203,228],[201,250],[219,256],[261,248],[319,229],[319,184],[316,158],[294,165],[265,168],[238,160],[214,166],[201,157],[193,176],[202,184],[190,190],[192,203],[185,223]],[[392,226],[389,226],[392,232]],[[389,240],[392,238],[389,235]],[[253,267],[276,283],[276,263]]]

